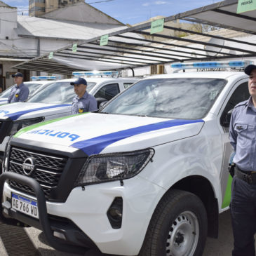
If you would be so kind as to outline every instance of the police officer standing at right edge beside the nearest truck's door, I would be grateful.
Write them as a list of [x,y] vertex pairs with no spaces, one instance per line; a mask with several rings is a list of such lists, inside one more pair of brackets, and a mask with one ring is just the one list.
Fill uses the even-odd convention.
[[245,67],[249,100],[234,107],[230,123],[234,156],[231,187],[231,220],[234,234],[233,256],[255,256],[256,232],[256,65]]

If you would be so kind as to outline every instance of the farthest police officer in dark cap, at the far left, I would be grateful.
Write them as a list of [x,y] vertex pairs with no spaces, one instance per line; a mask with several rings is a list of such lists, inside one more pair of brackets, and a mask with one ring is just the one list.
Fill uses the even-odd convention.
[[12,102],[25,102],[29,96],[29,88],[23,83],[23,75],[18,72],[13,74],[15,86],[11,89],[11,94],[8,97],[8,103]]

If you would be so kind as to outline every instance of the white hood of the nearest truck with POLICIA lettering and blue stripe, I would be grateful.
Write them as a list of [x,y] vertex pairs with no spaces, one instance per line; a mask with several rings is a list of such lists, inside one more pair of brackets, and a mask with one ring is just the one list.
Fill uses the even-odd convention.
[[[204,121],[87,113],[37,123],[15,137],[81,149],[88,156],[133,151],[198,134]],[[29,144],[29,141],[26,142]]]

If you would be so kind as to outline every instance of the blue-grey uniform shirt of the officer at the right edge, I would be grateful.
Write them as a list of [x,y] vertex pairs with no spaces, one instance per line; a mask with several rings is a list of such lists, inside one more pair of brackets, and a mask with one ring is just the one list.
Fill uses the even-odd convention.
[[252,97],[234,107],[229,138],[236,155],[234,163],[241,170],[256,171],[256,108]]

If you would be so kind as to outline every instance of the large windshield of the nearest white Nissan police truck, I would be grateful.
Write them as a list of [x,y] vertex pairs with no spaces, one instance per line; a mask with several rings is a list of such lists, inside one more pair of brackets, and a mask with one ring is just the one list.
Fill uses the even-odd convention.
[[135,83],[101,109],[109,114],[201,119],[227,83],[224,79],[147,79]]

